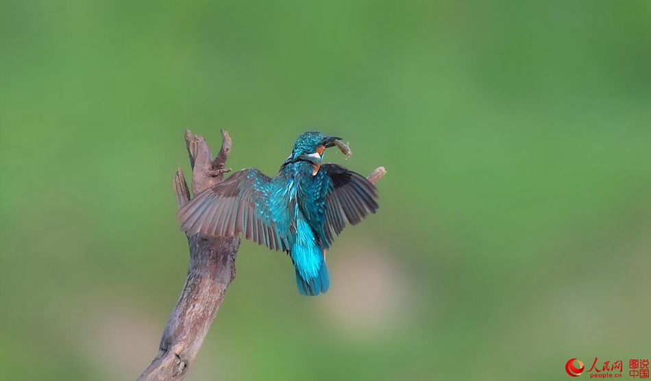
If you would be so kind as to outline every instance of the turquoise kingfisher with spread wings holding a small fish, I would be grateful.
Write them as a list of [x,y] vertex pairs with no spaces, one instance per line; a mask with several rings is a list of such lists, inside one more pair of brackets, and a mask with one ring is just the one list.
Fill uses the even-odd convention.
[[[195,195],[177,212],[181,230],[214,237],[243,234],[271,250],[285,251],[298,291],[316,296],[330,287],[326,251],[347,224],[378,210],[376,187],[339,164],[323,163],[341,138],[305,132],[276,177],[242,169]],[[342,149],[343,150],[343,149]]]

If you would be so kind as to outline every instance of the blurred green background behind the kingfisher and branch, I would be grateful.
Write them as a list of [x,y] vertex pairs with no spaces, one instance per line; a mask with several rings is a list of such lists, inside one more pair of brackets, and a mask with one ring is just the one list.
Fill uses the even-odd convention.
[[[186,380],[561,380],[651,354],[651,3],[0,1],[0,378],[134,380],[188,247],[184,130],[297,135],[381,208],[297,294],[243,242]],[[628,375],[625,375],[628,376]]]

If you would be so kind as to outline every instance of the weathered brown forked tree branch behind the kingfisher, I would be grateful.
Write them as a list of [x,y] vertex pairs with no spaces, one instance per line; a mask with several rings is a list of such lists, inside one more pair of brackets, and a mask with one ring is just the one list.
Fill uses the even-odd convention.
[[[228,132],[222,130],[221,135],[221,149],[213,160],[206,140],[186,131],[195,195],[223,180],[223,173],[230,171],[226,168],[226,160],[232,141]],[[369,180],[375,183],[385,173],[384,167],[380,167],[369,175]],[[179,208],[190,201],[190,190],[180,168],[174,176],[174,193]],[[228,285],[235,279],[240,238],[197,234],[188,237],[188,245],[190,265],[183,291],[165,326],[158,354],[138,381],[178,381],[185,378],[217,316]]]

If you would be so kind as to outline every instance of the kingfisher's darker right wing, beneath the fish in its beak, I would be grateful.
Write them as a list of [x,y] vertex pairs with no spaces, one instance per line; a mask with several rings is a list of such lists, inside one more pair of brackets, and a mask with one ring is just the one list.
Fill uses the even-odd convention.
[[378,206],[376,186],[359,173],[349,171],[339,164],[323,164],[330,178],[326,190],[326,224],[324,230],[329,243],[339,236],[346,222],[360,223],[369,213],[375,213]]

